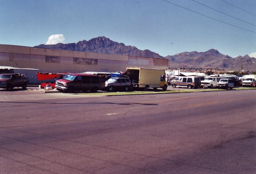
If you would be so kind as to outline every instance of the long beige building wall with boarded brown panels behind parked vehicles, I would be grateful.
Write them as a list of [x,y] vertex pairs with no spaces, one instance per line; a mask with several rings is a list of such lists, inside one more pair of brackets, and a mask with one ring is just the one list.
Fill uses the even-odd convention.
[[[40,72],[56,73],[124,72],[126,67],[167,69],[168,60],[0,44],[0,66],[35,68],[40,69]],[[28,77],[34,78],[35,73]]]

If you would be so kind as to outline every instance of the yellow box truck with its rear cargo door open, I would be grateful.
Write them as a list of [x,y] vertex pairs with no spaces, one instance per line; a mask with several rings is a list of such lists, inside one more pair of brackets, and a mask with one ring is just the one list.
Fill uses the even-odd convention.
[[127,77],[132,81],[133,88],[144,89],[148,88],[162,88],[167,89],[168,83],[165,81],[164,69],[142,68],[142,67],[127,67]]

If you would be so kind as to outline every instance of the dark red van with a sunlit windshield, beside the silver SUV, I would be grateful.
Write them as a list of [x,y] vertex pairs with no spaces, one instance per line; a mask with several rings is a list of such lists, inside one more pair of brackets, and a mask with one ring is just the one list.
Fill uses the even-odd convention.
[[105,86],[100,76],[91,74],[71,74],[68,73],[55,83],[55,88],[59,91],[92,91],[97,92]]

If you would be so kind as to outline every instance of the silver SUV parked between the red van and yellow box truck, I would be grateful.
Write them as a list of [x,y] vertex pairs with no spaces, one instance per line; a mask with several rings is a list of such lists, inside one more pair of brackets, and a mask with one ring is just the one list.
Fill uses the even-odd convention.
[[109,92],[124,90],[130,91],[132,83],[129,78],[112,77],[105,82],[105,89]]

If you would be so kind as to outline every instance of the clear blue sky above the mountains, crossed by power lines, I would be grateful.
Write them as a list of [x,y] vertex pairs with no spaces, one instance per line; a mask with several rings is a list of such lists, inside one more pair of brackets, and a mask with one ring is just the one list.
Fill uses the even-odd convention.
[[33,47],[105,36],[161,56],[216,49],[256,57],[256,0],[0,2],[0,44]]

